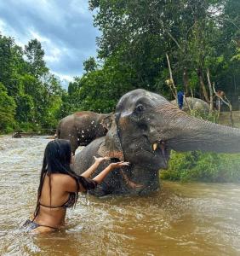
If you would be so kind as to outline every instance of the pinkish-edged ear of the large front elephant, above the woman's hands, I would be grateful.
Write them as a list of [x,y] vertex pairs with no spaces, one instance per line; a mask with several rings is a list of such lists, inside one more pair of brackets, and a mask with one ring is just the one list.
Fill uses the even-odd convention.
[[98,154],[110,158],[117,158],[122,161],[124,160],[123,148],[120,138],[117,135],[117,125],[114,119],[111,121],[111,127],[106,134],[104,142],[100,145]]

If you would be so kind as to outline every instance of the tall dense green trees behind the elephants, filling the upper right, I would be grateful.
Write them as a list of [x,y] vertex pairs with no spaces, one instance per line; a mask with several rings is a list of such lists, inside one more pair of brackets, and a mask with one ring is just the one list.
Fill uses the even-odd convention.
[[109,112],[135,88],[171,97],[169,55],[174,83],[209,100],[207,69],[216,89],[239,108],[240,2],[238,0],[90,0],[100,29],[98,59],[86,61],[82,78],[71,84],[81,99],[71,108]]

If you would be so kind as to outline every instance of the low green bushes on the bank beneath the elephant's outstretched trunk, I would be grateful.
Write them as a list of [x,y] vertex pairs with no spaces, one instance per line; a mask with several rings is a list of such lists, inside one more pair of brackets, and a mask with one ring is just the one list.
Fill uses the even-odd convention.
[[161,177],[173,181],[240,182],[240,154],[172,152],[169,170],[161,171]]

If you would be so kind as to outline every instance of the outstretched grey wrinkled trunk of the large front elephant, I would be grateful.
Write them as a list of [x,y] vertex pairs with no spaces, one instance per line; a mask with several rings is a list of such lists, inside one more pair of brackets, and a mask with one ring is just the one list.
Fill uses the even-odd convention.
[[240,130],[217,125],[187,115],[181,110],[168,106],[162,112],[167,120],[169,148],[176,151],[202,150],[218,153],[240,153]]

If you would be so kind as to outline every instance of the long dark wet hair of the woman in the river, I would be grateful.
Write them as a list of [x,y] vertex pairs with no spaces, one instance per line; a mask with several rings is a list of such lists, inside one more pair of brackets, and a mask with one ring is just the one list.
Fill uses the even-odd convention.
[[[80,189],[79,183],[83,185],[86,190],[94,189],[97,182],[86,177],[77,175],[70,167],[71,164],[71,144],[67,140],[56,139],[48,143],[45,148],[43,157],[43,167],[40,175],[40,183],[37,189],[37,207],[34,212],[34,217],[37,217],[40,207],[40,197],[43,189],[44,177],[49,176],[50,187],[50,206],[51,206],[51,174],[62,173],[73,177],[76,180],[77,190]],[[76,193],[75,204],[77,203],[78,193]]]

